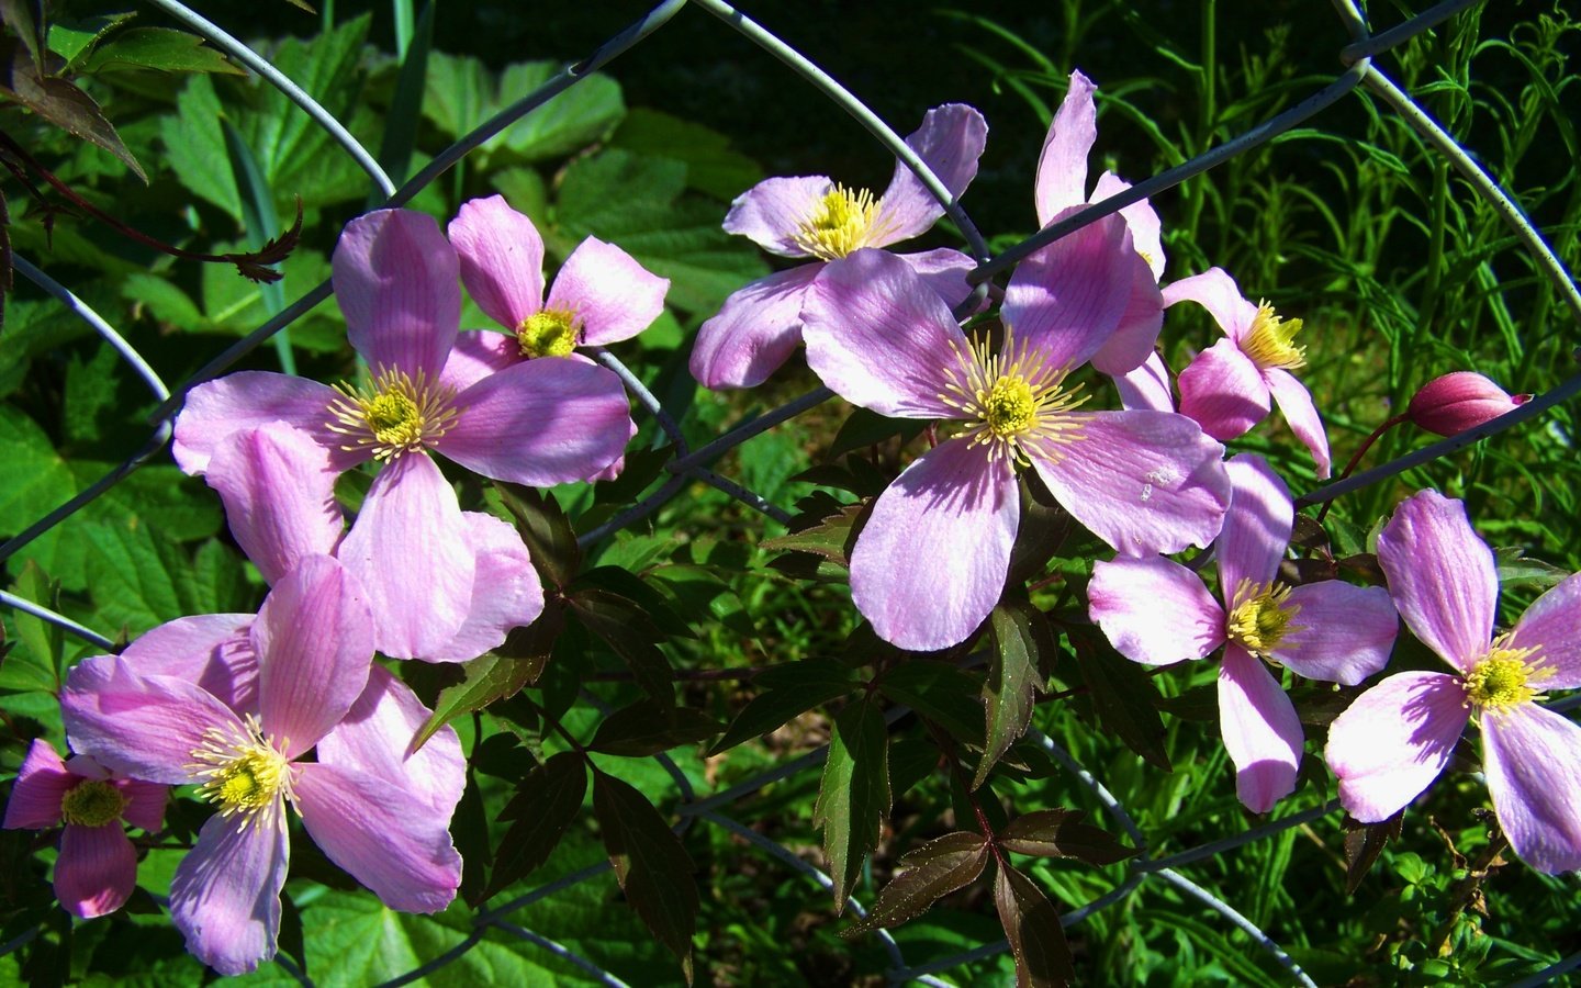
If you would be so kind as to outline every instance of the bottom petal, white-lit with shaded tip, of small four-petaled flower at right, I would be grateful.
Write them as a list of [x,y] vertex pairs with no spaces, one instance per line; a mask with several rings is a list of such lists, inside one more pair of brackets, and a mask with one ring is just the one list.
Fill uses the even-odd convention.
[[1268,813],[1295,790],[1303,741],[1295,705],[1268,667],[1233,643],[1219,666],[1219,732],[1247,809]]

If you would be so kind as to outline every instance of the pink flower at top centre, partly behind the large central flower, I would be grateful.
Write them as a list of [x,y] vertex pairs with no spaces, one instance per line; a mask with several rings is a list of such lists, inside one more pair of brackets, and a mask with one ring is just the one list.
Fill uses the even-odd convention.
[[[917,156],[960,198],[977,177],[988,125],[969,106],[950,103],[930,109],[917,133],[906,138]],[[849,190],[825,175],[765,179],[741,193],[724,217],[724,229],[751,237],[781,258],[813,258],[753,281],[729,299],[697,330],[691,373],[705,387],[753,387],[768,379],[802,341],[802,304],[825,262],[870,247],[909,240],[944,215],[915,174],[895,164],[889,188],[877,199],[868,190]],[[972,259],[949,250],[898,255],[950,305],[971,294],[966,272]]]

